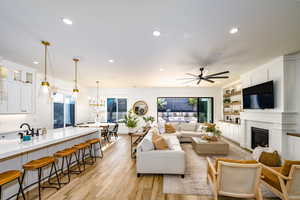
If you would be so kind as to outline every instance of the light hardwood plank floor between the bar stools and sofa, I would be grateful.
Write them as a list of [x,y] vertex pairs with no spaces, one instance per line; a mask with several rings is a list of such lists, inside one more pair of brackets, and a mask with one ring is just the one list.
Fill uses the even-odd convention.
[[[48,200],[210,200],[211,197],[162,193],[162,175],[137,178],[135,160],[130,157],[130,140],[121,136],[104,153],[97,164],[88,166],[80,175],[72,175],[60,190],[44,189],[42,199]],[[27,199],[37,199],[30,191]],[[223,199],[223,198],[222,198]],[[232,198],[226,198],[232,199]]]

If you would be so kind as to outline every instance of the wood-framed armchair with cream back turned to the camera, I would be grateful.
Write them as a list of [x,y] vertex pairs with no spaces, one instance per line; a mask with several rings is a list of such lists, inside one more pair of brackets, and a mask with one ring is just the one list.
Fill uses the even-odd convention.
[[214,200],[218,196],[255,198],[262,200],[260,176],[262,167],[255,160],[207,158],[207,181],[212,186]]

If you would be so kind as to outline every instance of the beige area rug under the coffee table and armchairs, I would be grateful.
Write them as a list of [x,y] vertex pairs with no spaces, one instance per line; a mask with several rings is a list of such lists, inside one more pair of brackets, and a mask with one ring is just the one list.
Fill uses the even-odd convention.
[[[230,143],[230,142],[229,142]],[[212,196],[210,185],[206,183],[207,161],[205,156],[195,153],[191,144],[181,144],[187,155],[187,169],[184,178],[177,175],[164,175],[163,193],[165,194],[190,194]],[[249,152],[230,143],[230,151],[227,157],[232,159],[251,159]],[[211,156],[215,159],[216,156]],[[263,197],[268,199],[277,199],[265,186],[262,187]],[[228,198],[225,198],[228,199]],[[229,198],[231,199],[231,198]]]

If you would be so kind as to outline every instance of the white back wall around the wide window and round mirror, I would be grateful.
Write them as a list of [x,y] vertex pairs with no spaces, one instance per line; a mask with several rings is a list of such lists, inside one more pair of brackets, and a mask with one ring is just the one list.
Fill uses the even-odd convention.
[[[96,97],[97,89],[91,88],[89,96]],[[221,119],[221,88],[104,88],[100,90],[104,98],[119,97],[127,98],[128,110],[138,100],[148,104],[147,115],[157,118],[157,97],[214,97],[214,120]],[[91,112],[92,113],[92,112]],[[104,113],[106,116],[106,113]],[[94,120],[95,114],[90,115]],[[126,130],[123,129],[126,132]]]

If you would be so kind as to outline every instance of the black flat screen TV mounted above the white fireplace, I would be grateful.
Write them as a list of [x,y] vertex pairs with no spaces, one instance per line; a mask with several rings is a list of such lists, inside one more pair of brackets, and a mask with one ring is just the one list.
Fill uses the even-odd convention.
[[273,81],[243,89],[244,109],[274,108]]

